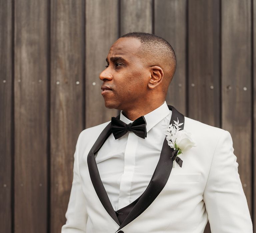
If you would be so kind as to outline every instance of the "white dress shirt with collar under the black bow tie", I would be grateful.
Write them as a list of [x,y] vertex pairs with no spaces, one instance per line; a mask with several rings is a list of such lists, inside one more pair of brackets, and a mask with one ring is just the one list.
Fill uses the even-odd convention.
[[[96,155],[102,183],[114,210],[136,200],[146,189],[158,163],[171,120],[166,102],[146,114],[145,139],[128,131],[119,139],[111,134]],[[120,120],[129,124],[121,111]]]

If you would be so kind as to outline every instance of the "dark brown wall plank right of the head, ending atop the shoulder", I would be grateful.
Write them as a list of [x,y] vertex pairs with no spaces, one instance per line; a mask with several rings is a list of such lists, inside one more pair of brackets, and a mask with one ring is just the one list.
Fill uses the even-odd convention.
[[188,1],[188,116],[220,127],[220,1]]

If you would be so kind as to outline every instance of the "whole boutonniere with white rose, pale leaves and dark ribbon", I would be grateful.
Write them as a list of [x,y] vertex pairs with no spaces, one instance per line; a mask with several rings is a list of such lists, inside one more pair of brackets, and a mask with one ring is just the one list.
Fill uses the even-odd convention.
[[173,167],[175,161],[182,167],[182,160],[178,157],[179,154],[184,153],[185,151],[189,150],[193,146],[196,146],[196,143],[193,141],[191,137],[191,133],[187,132],[186,130],[180,130],[180,125],[183,123],[179,123],[179,119],[177,121],[174,120],[174,124],[170,124],[167,133],[166,133],[166,140],[168,141],[168,145],[171,148],[174,148],[172,155],[170,158],[173,158]]

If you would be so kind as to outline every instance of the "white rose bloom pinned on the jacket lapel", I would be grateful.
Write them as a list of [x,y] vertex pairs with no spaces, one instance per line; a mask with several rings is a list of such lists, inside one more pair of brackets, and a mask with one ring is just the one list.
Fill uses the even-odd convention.
[[191,137],[191,133],[187,132],[184,129],[179,130],[175,136],[175,143],[177,147],[181,149],[182,153],[184,153],[186,150],[189,150],[193,146],[196,146],[195,141]]

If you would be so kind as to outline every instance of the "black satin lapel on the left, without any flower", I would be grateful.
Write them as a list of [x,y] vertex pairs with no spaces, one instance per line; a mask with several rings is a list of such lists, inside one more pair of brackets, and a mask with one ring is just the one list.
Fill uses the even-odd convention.
[[100,199],[100,202],[102,203],[103,207],[108,212],[108,214],[120,226],[120,222],[116,216],[113,206],[108,198],[108,194],[101,181],[99,170],[95,161],[95,153],[100,149],[100,147],[103,145],[103,143],[106,141],[106,139],[109,137],[110,134],[111,134],[111,122],[103,129],[98,139],[92,146],[87,156],[87,163],[88,163],[88,170],[90,173],[91,181],[97,193],[97,196]]

